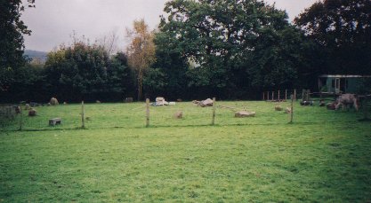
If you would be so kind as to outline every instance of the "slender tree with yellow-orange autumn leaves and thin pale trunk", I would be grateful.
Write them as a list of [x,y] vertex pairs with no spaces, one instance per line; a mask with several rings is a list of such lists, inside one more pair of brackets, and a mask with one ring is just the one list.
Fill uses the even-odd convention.
[[141,100],[143,75],[149,66],[156,61],[155,44],[153,43],[154,33],[149,31],[144,20],[134,20],[133,30],[127,30],[127,34],[132,38],[127,48],[129,66],[136,74],[138,86],[138,100]]

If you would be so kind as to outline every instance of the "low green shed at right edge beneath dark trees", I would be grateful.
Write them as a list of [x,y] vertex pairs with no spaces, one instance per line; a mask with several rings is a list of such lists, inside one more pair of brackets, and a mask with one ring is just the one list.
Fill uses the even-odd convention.
[[319,75],[319,90],[322,92],[356,93],[359,83],[371,75],[322,74]]

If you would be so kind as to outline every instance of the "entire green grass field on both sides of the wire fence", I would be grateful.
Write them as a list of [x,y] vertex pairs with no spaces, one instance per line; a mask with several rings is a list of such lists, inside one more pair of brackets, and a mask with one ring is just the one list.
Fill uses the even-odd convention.
[[[36,107],[2,123],[0,202],[370,202],[371,123],[361,113],[269,102]],[[288,106],[288,103],[281,104]],[[181,110],[184,118],[173,119]],[[49,127],[48,120],[62,118]]]

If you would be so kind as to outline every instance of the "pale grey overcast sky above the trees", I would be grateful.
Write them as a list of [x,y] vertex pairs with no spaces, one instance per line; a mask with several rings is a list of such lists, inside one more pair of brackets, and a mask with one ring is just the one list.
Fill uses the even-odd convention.
[[[167,0],[36,0],[36,8],[22,14],[32,35],[25,36],[26,49],[51,51],[61,43],[69,44],[75,31],[91,41],[117,32],[117,46],[125,50],[125,27],[133,20],[144,19],[155,28]],[[278,9],[286,10],[290,20],[317,0],[264,0],[276,2]]]

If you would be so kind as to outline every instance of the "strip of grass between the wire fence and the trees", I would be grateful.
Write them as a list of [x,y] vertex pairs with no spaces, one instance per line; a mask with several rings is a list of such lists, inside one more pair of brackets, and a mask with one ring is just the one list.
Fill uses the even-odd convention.
[[[276,111],[279,105],[282,111]],[[84,106],[84,108],[83,108]],[[294,102],[294,123],[296,124],[325,124],[334,122],[356,122],[364,117],[364,111],[369,113],[369,101],[367,108],[361,108],[359,112],[328,111],[326,107],[314,104],[302,106]],[[25,106],[20,106],[21,112],[5,118],[2,116],[1,131],[42,131],[42,130],[73,130],[73,129],[141,129],[148,127],[201,127],[212,126],[267,126],[286,125],[290,122],[290,113],[285,113],[286,108],[291,107],[291,102],[262,102],[262,101],[217,101],[214,107],[200,107],[191,102],[176,103],[176,105],[146,107],[145,103],[124,104],[74,104],[57,106],[35,107],[36,116],[28,116]],[[84,109],[84,110],[83,110]],[[245,111],[256,113],[254,117],[237,118],[235,113]],[[182,114],[178,119],[176,113]],[[149,113],[149,115],[148,115]],[[49,120],[60,118],[57,125],[50,125]]]

